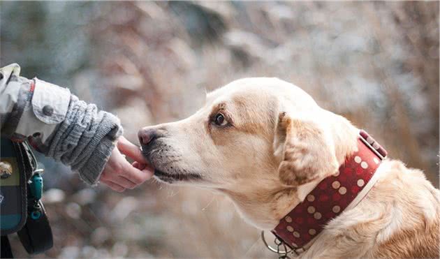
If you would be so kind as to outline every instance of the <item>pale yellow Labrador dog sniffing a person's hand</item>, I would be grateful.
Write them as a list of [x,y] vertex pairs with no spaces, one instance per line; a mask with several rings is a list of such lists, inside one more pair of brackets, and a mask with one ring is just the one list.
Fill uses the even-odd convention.
[[[257,77],[212,91],[191,117],[142,128],[138,135],[157,179],[224,193],[256,228],[286,227],[285,233],[274,233],[290,233],[294,242],[284,242],[293,249],[307,242],[301,257],[438,258],[439,190],[420,170],[387,158],[375,156],[374,166],[355,156],[358,168],[342,172],[362,145],[359,132],[295,85]],[[350,188],[330,179],[351,170],[362,174],[369,165],[374,172]],[[327,179],[333,182],[320,184]],[[315,198],[314,191],[322,197]],[[326,193],[334,194],[328,199]],[[351,204],[327,213],[325,207],[340,197]],[[305,202],[316,203],[296,212]],[[331,210],[337,216],[332,218]],[[325,215],[330,216],[322,229],[314,227]],[[307,224],[307,232],[300,229]]]

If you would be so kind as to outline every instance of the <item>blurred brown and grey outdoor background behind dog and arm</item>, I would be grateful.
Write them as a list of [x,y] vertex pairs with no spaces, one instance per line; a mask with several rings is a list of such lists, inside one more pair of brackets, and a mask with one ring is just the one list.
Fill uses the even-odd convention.
[[[1,66],[141,126],[240,77],[279,77],[439,186],[439,2],[0,3]],[[115,193],[45,164],[54,248],[34,258],[274,258],[233,205],[155,181]],[[17,257],[28,257],[13,237]]]

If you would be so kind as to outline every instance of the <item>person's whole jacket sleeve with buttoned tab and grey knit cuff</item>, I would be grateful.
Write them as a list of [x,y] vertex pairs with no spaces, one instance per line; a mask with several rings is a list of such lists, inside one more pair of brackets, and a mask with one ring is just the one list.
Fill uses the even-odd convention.
[[[20,77],[17,64],[0,68],[0,118],[1,135],[28,139],[38,151],[79,172],[87,184],[96,184],[103,171],[104,175],[122,175],[130,170],[124,178],[135,177],[128,162],[122,163],[114,151],[122,135],[117,117],[80,101],[68,89]],[[124,166],[112,171],[112,164]],[[143,181],[152,176],[150,171],[143,174]]]

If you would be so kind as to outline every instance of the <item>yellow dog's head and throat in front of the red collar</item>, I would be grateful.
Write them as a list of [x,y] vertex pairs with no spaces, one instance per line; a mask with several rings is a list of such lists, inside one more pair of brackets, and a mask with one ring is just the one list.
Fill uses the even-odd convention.
[[157,179],[226,193],[245,219],[273,228],[355,147],[348,121],[276,78],[237,80],[191,117],[142,128]]

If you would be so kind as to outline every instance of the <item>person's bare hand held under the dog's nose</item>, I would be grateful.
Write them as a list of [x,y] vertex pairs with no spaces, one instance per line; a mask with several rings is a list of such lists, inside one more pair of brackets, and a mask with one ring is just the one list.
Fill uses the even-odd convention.
[[[133,158],[135,162],[130,164],[123,154]],[[135,188],[153,175],[154,170],[142,156],[140,148],[121,136],[105,165],[100,182],[122,193],[126,188]]]

